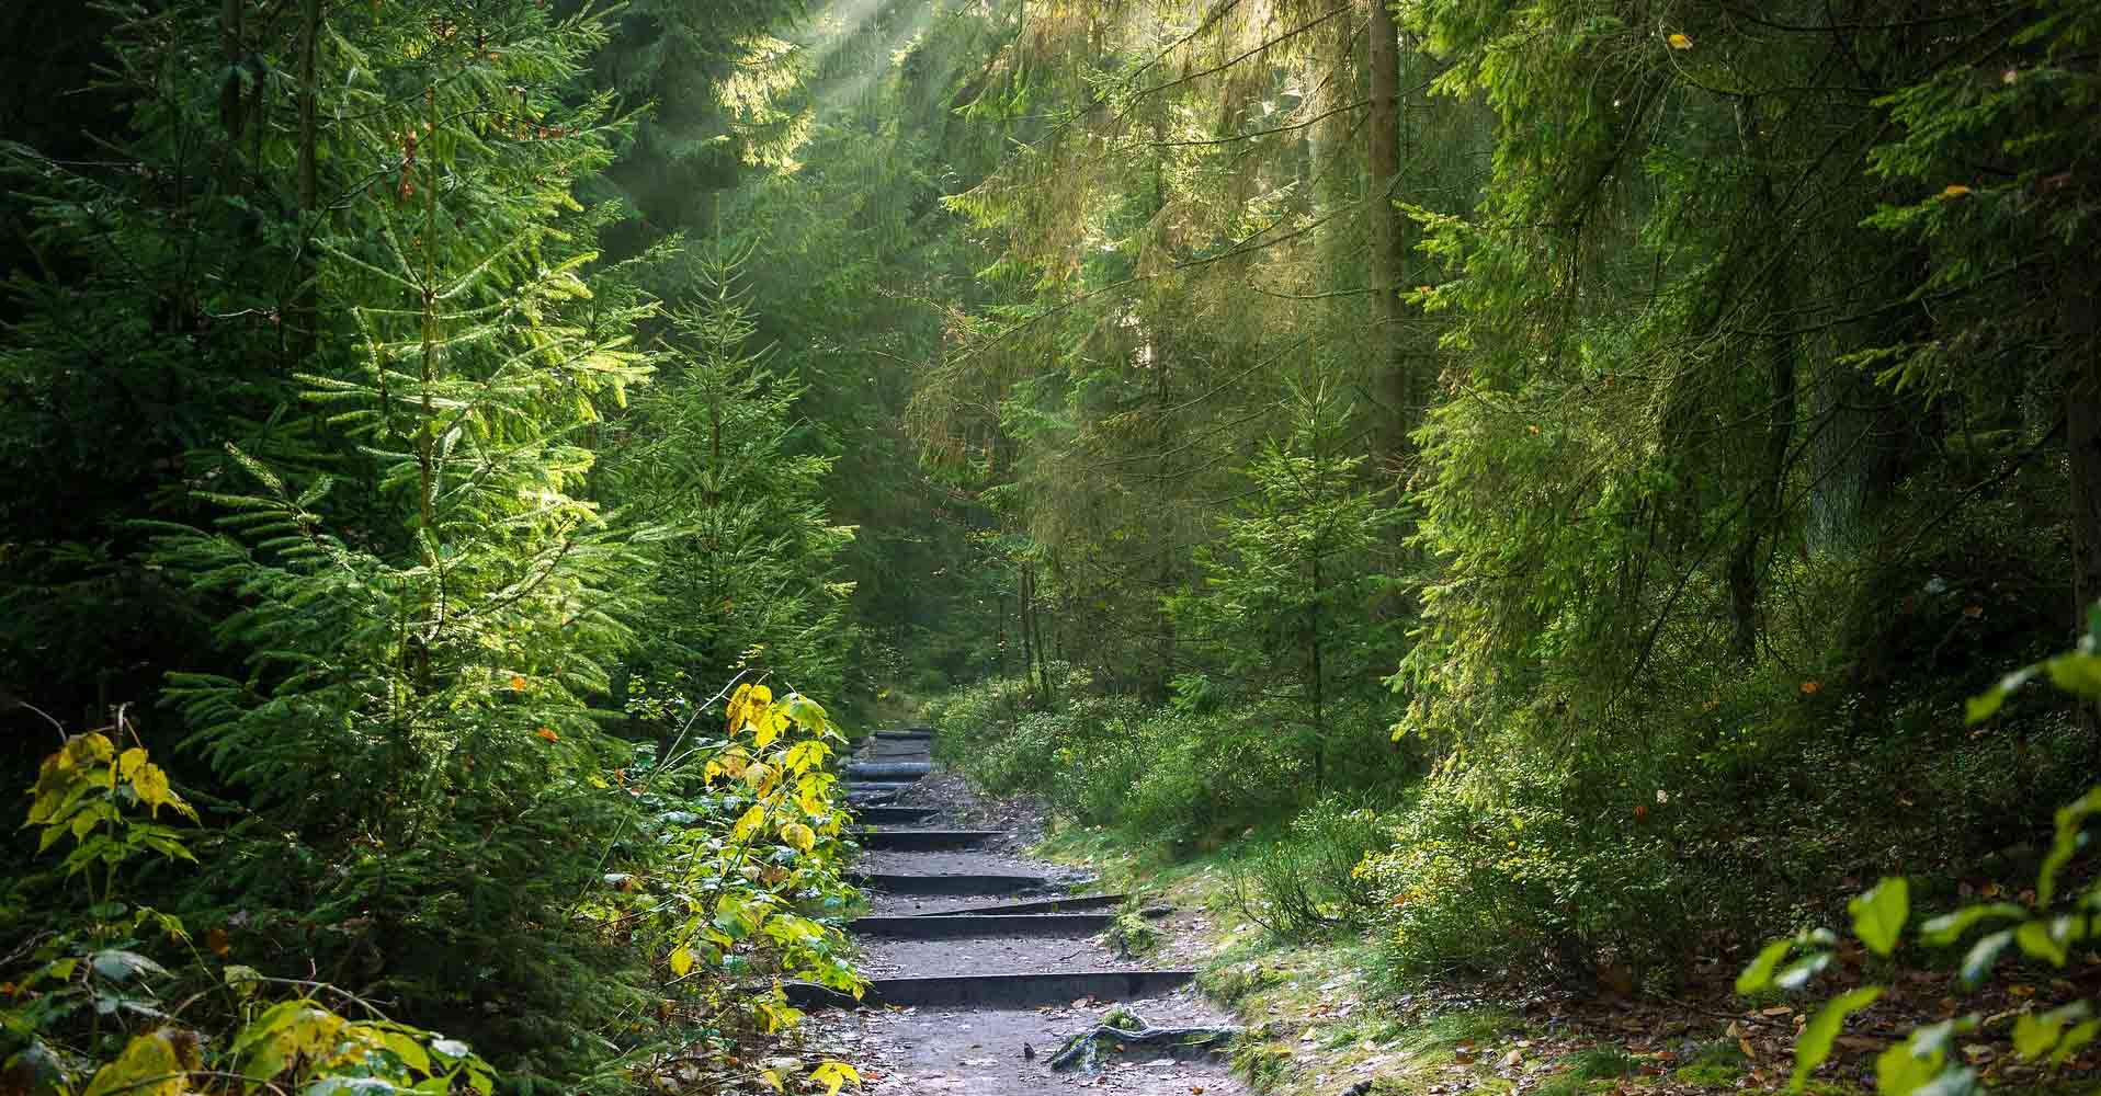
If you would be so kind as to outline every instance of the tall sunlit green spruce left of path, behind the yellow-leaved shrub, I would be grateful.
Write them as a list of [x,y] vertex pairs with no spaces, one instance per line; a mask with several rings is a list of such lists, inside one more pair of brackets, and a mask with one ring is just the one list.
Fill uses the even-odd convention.
[[248,668],[168,697],[254,808],[214,884],[258,930],[576,1069],[574,1025],[630,993],[565,911],[632,821],[597,789],[632,750],[595,703],[653,565],[649,527],[584,498],[601,414],[649,376],[651,307],[595,298],[569,197],[618,132],[569,94],[605,34],[527,0],[332,29],[334,139],[389,155],[311,260],[313,323],[355,332],[296,374],[338,475],[229,445],[240,481],[197,493],[227,517],[151,525]]

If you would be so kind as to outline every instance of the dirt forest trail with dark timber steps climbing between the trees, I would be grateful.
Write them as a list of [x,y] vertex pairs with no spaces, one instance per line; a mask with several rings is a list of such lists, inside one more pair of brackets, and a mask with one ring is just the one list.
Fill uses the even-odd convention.
[[813,1012],[811,1048],[855,1062],[874,1096],[1248,1096],[1221,1054],[1172,1039],[1118,1039],[1122,1050],[1103,1039],[1078,1067],[1053,1069],[1067,1039],[1118,1010],[1153,1029],[1227,1020],[1172,968],[1172,949],[1145,957],[1111,943],[1124,897],[1025,857],[1032,819],[1000,817],[933,771],[929,747],[927,733],[885,731],[849,766],[870,827],[859,859],[870,909],[853,936],[872,985],[855,1008]]

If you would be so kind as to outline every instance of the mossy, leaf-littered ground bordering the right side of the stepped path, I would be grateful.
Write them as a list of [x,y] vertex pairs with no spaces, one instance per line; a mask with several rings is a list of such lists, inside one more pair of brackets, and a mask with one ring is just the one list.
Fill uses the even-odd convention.
[[1053,831],[1042,852],[1101,871],[1105,886],[1143,886],[1151,901],[1204,911],[1181,947],[1200,985],[1229,1004],[1246,1037],[1235,1065],[1277,1096],[1712,1096],[1784,1092],[1794,1041],[1815,1008],[1861,981],[1885,995],[1857,1012],[1832,1058],[1807,1081],[1819,1096],[1872,1094],[1876,1056],[1929,1023],[1979,1014],[1956,1050],[2000,1092],[2093,1092],[2101,1056],[2053,1071],[2006,1046],[2034,999],[2093,995],[2101,970],[2053,981],[2002,981],[1958,993],[1948,972],[1876,968],[1840,951],[1819,993],[1744,999],[1738,964],[1704,960],[1674,993],[1553,985],[1525,978],[1416,981],[1385,976],[1378,941],[1277,941],[1242,901],[1233,850],[1160,867],[1095,831]]

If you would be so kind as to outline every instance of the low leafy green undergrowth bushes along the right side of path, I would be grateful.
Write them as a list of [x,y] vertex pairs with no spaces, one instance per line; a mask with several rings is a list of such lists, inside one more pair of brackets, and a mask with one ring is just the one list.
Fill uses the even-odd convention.
[[1263,737],[1261,708],[1147,708],[1084,674],[1055,703],[987,680],[927,716],[937,756],[981,787],[1042,796],[1088,840],[1145,850],[1149,871],[1219,869],[1273,936],[1376,941],[1406,985],[1683,991],[1702,960],[1830,920],[1847,880],[1901,865],[1937,905],[2017,884],[2046,823],[2034,804],[2080,789],[2088,737],[2061,708],[1973,733],[1960,687],[1891,703],[1798,676],[1714,684],[1643,716],[1647,754],[1559,768],[1454,750],[1422,773],[1422,743],[1343,726],[1359,758],[1326,792]]

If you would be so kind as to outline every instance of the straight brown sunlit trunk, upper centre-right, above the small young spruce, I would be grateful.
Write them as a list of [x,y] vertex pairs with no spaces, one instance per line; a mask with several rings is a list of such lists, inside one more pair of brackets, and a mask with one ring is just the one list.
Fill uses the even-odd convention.
[[1393,21],[1387,0],[1370,0],[1370,48],[1368,78],[1372,111],[1370,145],[1366,170],[1370,189],[1366,212],[1372,218],[1372,319],[1376,332],[1378,399],[1385,403],[1380,416],[1378,447],[1382,454],[1399,454],[1408,447],[1408,430],[1416,424],[1422,395],[1416,393],[1412,370],[1401,353],[1401,288],[1408,279],[1408,237],[1403,233],[1401,210],[1393,204],[1401,174],[1401,29]]

